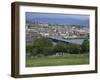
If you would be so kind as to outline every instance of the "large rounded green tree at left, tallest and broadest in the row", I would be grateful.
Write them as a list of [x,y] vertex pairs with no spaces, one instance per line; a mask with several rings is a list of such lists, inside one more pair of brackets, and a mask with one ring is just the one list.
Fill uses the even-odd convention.
[[33,41],[33,47],[32,50],[33,55],[50,55],[51,54],[51,47],[53,46],[52,41],[48,38],[41,37],[37,38]]

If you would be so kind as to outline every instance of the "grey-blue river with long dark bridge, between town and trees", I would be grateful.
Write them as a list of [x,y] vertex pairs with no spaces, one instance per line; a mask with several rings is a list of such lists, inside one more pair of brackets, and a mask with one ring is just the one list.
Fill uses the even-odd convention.
[[54,42],[64,42],[67,44],[77,44],[81,45],[84,41],[84,38],[68,38],[68,39],[63,39],[60,37],[48,37],[49,39],[52,39]]

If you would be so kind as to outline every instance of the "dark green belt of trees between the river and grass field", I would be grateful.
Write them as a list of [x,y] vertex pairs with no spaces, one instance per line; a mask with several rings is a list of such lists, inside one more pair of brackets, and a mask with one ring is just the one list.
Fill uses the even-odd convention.
[[88,39],[85,39],[82,45],[64,44],[61,42],[53,45],[52,40],[41,37],[35,39],[32,45],[26,46],[26,53],[29,53],[31,56],[37,57],[55,55],[56,53],[80,54],[85,52],[89,52]]

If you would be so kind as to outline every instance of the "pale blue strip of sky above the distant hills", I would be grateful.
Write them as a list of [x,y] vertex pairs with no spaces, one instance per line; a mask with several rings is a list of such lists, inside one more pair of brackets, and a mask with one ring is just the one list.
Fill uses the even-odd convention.
[[29,18],[58,18],[58,19],[67,19],[67,18],[74,18],[74,19],[80,19],[80,20],[88,20],[89,15],[76,15],[76,14],[51,14],[51,13],[32,13],[32,12],[26,12],[26,17]]

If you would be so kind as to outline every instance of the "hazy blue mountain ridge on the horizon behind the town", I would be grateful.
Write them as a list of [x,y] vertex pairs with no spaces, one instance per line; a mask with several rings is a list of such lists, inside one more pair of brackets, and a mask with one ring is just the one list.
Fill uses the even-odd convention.
[[81,19],[75,19],[75,18],[32,18],[32,17],[26,17],[26,22],[28,23],[34,23],[34,22],[40,22],[40,23],[50,23],[50,24],[68,24],[68,25],[80,25],[80,26],[86,26],[89,27],[89,20],[81,20]]

